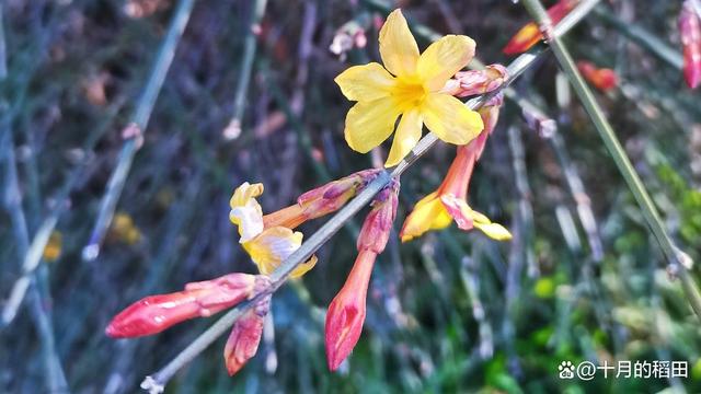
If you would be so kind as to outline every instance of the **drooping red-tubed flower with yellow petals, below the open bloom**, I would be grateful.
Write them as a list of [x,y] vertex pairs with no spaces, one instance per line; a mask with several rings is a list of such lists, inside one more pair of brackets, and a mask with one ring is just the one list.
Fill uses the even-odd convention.
[[469,144],[458,147],[456,159],[438,189],[416,202],[400,232],[402,242],[421,236],[426,231],[445,229],[452,221],[462,230],[478,228],[487,236],[498,241],[512,237],[508,230],[472,210],[467,201],[474,164],[480,159],[486,139],[496,125],[502,100],[501,95],[496,96],[480,109],[485,125],[484,131]]

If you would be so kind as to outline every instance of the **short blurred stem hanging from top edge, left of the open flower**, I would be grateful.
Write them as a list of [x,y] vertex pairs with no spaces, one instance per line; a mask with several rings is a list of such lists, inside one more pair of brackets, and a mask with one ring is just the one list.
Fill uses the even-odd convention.
[[241,59],[239,81],[237,82],[237,91],[233,96],[233,112],[229,125],[223,130],[223,137],[227,139],[237,139],[241,135],[241,119],[243,118],[245,97],[249,91],[251,70],[253,69],[253,59],[255,58],[255,49],[257,46],[256,35],[261,30],[261,21],[265,14],[266,3],[267,0],[255,0],[250,4],[251,12],[248,23],[245,23],[243,58]]

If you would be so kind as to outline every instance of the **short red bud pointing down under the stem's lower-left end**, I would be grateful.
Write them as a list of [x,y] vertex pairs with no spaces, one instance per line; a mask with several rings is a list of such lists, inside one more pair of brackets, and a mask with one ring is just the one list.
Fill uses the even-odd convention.
[[233,325],[223,348],[223,360],[229,375],[239,372],[255,356],[261,344],[265,316],[269,309],[271,296],[267,296],[246,311]]

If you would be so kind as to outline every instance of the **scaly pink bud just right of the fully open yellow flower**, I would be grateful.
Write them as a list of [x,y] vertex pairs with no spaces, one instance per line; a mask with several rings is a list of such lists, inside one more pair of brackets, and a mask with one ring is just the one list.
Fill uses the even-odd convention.
[[502,65],[490,65],[484,70],[469,70],[456,73],[448,80],[443,93],[458,97],[485,94],[495,91],[508,80],[508,71]]

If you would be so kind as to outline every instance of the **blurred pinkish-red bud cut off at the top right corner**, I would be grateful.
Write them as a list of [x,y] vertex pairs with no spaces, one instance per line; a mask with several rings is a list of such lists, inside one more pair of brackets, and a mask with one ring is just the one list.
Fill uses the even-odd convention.
[[691,89],[701,82],[701,19],[687,0],[679,13],[679,35],[683,47],[683,77]]

